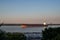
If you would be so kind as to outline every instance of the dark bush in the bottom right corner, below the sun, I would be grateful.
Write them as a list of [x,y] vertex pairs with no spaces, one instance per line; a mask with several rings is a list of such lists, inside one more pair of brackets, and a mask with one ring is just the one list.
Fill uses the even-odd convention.
[[45,28],[42,31],[42,40],[60,40],[60,27],[58,28]]

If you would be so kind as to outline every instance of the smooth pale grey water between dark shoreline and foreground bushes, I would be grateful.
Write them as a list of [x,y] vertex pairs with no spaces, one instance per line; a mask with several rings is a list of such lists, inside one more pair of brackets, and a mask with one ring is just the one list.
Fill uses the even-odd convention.
[[44,27],[1,26],[0,29],[6,32],[41,32]]

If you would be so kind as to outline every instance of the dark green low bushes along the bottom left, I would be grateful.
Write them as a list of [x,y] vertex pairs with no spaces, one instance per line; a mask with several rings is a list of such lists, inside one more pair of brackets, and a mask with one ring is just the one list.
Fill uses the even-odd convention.
[[7,33],[0,30],[0,40],[26,40],[26,36],[23,33]]

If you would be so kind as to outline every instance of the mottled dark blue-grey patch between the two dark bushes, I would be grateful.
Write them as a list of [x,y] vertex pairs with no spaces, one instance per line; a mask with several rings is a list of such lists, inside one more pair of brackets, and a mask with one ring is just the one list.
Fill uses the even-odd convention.
[[42,33],[41,32],[24,32],[27,40],[41,40]]

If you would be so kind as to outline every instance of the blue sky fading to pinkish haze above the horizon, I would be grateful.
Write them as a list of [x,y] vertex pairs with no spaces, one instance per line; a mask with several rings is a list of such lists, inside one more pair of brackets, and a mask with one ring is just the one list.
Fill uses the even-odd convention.
[[0,0],[0,23],[60,23],[60,0]]

